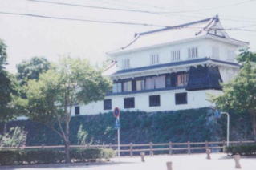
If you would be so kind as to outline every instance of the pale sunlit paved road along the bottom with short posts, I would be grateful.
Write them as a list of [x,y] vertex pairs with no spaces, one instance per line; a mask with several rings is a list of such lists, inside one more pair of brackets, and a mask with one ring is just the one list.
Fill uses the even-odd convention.
[[[4,169],[22,170],[166,170],[166,162],[173,162],[173,170],[234,170],[234,160],[226,154],[212,154],[211,160],[205,159],[205,154],[173,155],[173,156],[147,156],[146,162],[140,162],[140,157],[122,157],[112,159],[106,164],[75,164],[72,166],[43,165],[39,167],[13,167]],[[256,157],[242,158],[242,170],[256,170]],[[0,169],[2,169],[0,167]]]

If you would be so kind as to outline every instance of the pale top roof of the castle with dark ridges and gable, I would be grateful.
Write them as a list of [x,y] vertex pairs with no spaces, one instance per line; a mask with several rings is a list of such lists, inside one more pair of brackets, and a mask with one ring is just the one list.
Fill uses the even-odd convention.
[[[217,34],[214,30],[217,30]],[[178,26],[169,26],[163,29],[135,34],[135,38],[132,42],[128,43],[127,46],[121,47],[116,51],[110,51],[108,54],[112,55],[122,51],[131,51],[142,47],[177,42],[184,39],[201,37],[209,33],[216,34],[221,38],[229,38],[226,32],[222,29],[219,18],[216,16],[196,22],[189,22]]]

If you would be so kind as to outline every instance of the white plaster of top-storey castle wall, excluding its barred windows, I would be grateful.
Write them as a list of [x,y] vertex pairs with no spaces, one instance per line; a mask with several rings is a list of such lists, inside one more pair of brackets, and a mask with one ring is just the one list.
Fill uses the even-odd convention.
[[[220,60],[227,61],[227,51],[236,51],[237,46],[228,43],[219,42],[213,39],[197,39],[190,42],[182,42],[165,47],[155,47],[143,51],[130,52],[128,54],[119,55],[117,59],[117,70],[122,70],[122,59],[130,59],[130,68],[145,67],[150,65],[150,55],[159,54],[160,63],[171,62],[171,51],[181,51],[181,60],[188,59],[187,49],[189,47],[198,47],[199,58],[212,57],[212,47],[218,47],[220,53]],[[235,60],[234,60],[235,62]]]

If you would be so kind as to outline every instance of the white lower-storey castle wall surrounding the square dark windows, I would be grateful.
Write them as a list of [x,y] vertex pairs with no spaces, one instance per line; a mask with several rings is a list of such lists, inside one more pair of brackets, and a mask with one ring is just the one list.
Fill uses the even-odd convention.
[[[175,94],[187,93],[187,103],[176,104]],[[79,104],[79,115],[95,115],[99,113],[112,111],[115,107],[119,107],[123,111],[177,111],[191,108],[210,107],[213,103],[209,102],[209,95],[220,95],[221,91],[217,90],[201,90],[186,91],[185,89],[177,89],[171,91],[153,91],[140,94],[129,95],[112,95],[105,99],[112,100],[111,109],[104,110],[104,101],[89,103],[87,105]],[[149,107],[149,96],[160,95],[160,106]],[[134,108],[124,108],[124,98],[134,97]],[[72,108],[72,115],[75,115],[75,107]]]

